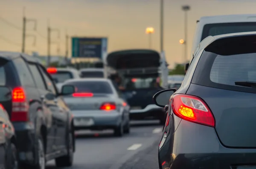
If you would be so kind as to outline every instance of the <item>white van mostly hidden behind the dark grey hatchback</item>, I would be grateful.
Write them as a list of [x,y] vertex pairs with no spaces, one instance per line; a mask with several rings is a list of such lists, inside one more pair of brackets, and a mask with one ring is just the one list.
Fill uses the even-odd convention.
[[254,31],[256,31],[256,14],[201,17],[197,21],[190,61],[192,60],[193,52],[199,47],[199,43],[208,36]]

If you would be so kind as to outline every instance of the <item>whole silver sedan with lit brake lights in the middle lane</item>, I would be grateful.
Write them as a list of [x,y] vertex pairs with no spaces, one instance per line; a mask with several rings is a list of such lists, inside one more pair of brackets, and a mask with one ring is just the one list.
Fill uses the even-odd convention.
[[114,135],[130,132],[130,106],[122,99],[111,80],[84,78],[67,80],[65,85],[75,86],[76,92],[64,96],[74,115],[76,130],[113,129]]

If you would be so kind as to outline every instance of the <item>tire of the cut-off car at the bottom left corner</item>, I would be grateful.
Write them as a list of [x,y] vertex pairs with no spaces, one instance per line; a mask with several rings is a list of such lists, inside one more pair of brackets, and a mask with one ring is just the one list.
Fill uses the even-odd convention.
[[18,169],[17,149],[14,143],[10,143],[8,146],[6,169]]

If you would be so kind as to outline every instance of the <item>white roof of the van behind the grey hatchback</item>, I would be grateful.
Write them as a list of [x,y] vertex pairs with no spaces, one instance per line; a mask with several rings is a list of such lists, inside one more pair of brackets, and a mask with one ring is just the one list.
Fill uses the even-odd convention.
[[238,23],[238,22],[256,22],[256,14],[230,14],[204,16],[199,20],[200,23]]

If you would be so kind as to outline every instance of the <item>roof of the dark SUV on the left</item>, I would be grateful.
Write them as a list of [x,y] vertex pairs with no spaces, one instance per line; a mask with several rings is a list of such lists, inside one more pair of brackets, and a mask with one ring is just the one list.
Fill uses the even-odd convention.
[[28,62],[39,63],[40,61],[36,57],[32,57],[28,54],[20,53],[20,52],[8,52],[8,51],[0,51],[0,57],[5,58],[6,60],[13,60],[17,57],[23,57]]

